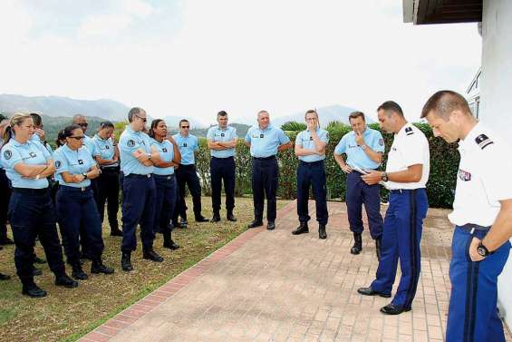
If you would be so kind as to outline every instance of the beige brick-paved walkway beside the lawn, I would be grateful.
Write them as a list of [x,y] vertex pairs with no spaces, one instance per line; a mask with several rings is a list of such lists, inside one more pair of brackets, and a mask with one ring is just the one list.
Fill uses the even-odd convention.
[[[310,210],[314,211],[314,203]],[[451,228],[430,210],[412,311],[384,316],[387,298],[363,297],[377,269],[367,232],[353,244],[344,203],[329,203],[328,239],[317,225],[298,237],[295,202],[277,228],[248,230],[82,341],[442,341],[449,301]],[[396,289],[396,288],[395,288]],[[507,341],[512,341],[507,335]]]

